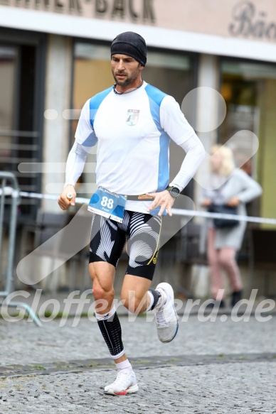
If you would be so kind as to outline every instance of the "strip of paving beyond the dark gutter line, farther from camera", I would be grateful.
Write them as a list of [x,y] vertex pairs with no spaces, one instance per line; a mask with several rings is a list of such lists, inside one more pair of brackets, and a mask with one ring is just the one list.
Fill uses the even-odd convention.
[[[42,328],[33,322],[0,320],[1,365],[32,364],[64,359],[106,358],[110,354],[97,322],[80,318],[72,327],[69,318],[63,327],[60,320],[44,322]],[[276,315],[267,322],[250,317],[248,322],[200,322],[190,316],[180,318],[179,332],[173,342],[162,344],[157,339],[154,320],[137,317],[131,322],[120,317],[124,347],[129,358],[134,356],[242,354],[276,352]]]

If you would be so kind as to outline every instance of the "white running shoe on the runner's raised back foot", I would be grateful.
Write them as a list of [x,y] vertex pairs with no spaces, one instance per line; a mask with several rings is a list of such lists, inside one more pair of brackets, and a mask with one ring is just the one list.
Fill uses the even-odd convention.
[[154,308],[158,338],[161,342],[171,342],[179,329],[179,318],[174,309],[174,290],[169,283],[159,283],[156,290],[161,293],[161,304]]

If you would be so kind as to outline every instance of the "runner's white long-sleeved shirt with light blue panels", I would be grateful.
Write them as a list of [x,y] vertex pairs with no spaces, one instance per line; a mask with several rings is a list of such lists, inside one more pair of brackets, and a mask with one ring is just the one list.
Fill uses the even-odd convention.
[[[96,184],[123,195],[159,192],[169,185],[169,141],[186,152],[171,184],[182,190],[204,158],[201,141],[173,97],[144,82],[132,92],[113,87],[89,99],[81,111],[68,156],[66,184],[75,185],[85,158],[97,144]],[[126,209],[147,212],[149,202],[127,201]]]

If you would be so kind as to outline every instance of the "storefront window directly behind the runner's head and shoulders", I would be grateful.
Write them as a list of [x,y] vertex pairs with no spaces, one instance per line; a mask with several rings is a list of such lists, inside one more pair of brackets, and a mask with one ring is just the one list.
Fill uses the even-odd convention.
[[[185,95],[195,87],[194,60],[191,55],[184,53],[163,53],[149,50],[147,65],[142,72],[143,79],[172,95],[181,105]],[[110,69],[110,46],[92,45],[90,43],[75,43],[74,50],[74,82],[73,82],[73,109],[75,119],[72,122],[71,143],[74,140],[78,116],[83,104],[97,92],[114,84]],[[184,151],[179,151],[171,143],[171,178],[176,175],[184,158]],[[95,153],[90,154],[90,169],[85,167],[83,183],[80,183],[78,192],[91,192],[85,183],[95,183],[95,170],[91,172],[91,163],[95,162]],[[92,180],[92,181],[91,181]],[[191,190],[190,190],[191,192]]]

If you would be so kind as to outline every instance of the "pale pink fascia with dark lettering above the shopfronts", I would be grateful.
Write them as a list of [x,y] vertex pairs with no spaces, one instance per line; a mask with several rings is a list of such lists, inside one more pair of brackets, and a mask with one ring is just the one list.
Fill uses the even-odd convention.
[[276,41],[276,0],[0,0],[16,9]]

